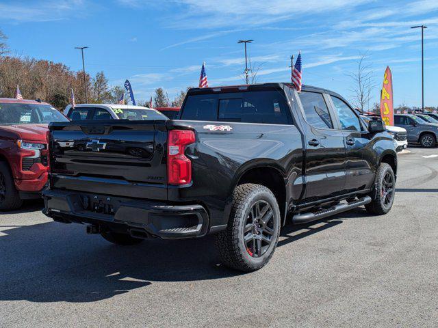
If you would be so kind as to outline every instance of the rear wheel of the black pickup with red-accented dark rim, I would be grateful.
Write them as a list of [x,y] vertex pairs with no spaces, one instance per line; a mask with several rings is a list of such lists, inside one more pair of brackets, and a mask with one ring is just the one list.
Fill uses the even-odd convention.
[[260,184],[240,184],[233,193],[227,229],[216,238],[222,262],[251,272],[274,254],[280,234],[280,210],[272,191]]

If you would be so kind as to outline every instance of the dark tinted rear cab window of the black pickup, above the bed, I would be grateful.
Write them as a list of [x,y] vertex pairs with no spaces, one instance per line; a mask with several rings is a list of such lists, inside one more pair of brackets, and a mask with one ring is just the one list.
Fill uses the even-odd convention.
[[181,120],[292,124],[292,115],[283,91],[261,90],[189,94]]

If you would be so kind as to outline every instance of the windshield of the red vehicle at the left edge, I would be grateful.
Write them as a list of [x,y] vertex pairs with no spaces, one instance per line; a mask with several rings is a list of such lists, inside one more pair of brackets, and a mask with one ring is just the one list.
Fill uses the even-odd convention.
[[0,103],[0,125],[49,124],[67,121],[68,118],[49,105]]

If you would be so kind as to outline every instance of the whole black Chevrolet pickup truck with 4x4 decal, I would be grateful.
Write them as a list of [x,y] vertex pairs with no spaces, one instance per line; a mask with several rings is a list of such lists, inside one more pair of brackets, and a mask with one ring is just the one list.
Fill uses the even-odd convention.
[[189,90],[179,120],[49,126],[44,214],[118,245],[216,234],[224,264],[272,257],[287,219],[394,202],[397,154],[329,90],[265,83]]

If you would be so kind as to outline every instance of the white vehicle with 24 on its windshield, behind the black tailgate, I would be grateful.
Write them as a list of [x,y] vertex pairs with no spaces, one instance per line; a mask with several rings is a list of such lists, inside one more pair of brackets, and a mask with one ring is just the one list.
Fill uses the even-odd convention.
[[115,104],[68,105],[64,114],[77,120],[162,120],[164,115],[148,107]]

